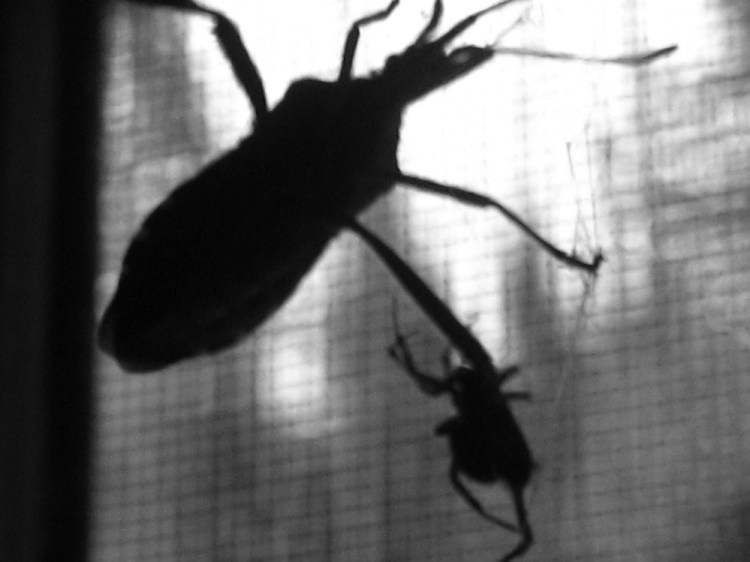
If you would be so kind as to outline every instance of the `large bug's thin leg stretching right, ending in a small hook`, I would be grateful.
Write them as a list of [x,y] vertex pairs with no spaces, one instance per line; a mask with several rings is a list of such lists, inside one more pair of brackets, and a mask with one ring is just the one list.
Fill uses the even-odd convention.
[[526,233],[526,235],[528,235],[532,240],[539,244],[544,250],[551,254],[555,259],[563,262],[566,265],[569,265],[570,267],[582,269],[591,274],[596,274],[602,261],[604,261],[604,256],[601,252],[597,252],[591,261],[584,261],[575,253],[571,254],[562,251],[557,246],[553,245],[551,242],[547,241],[545,238],[539,235],[516,213],[514,213],[498,201],[495,201],[494,199],[485,195],[481,195],[479,193],[475,193],[461,187],[445,185],[433,180],[421,178],[418,176],[412,176],[401,172],[396,172],[388,175],[394,181],[405,183],[417,189],[421,189],[422,191],[427,191],[436,195],[451,197],[452,199],[455,199],[456,201],[459,201],[460,203],[464,203],[466,205],[496,209],[497,211],[502,213],[509,221],[511,221],[524,233]]

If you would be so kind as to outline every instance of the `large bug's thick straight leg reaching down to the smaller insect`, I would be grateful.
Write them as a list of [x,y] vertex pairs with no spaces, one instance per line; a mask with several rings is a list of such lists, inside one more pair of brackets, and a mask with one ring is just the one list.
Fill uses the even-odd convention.
[[422,311],[474,368],[487,374],[495,373],[492,358],[480,341],[388,244],[351,217],[342,217],[341,221],[378,254]]

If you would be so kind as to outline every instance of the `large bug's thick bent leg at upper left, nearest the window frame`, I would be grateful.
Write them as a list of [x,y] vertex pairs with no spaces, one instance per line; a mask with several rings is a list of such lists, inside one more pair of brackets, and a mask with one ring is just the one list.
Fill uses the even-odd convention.
[[192,0],[130,0],[135,4],[165,6],[207,15],[214,20],[214,33],[221,50],[229,60],[234,76],[245,90],[250,104],[255,111],[256,121],[262,121],[268,115],[268,101],[263,80],[258,67],[255,66],[250,53],[247,52],[237,26],[221,12],[206,8]]

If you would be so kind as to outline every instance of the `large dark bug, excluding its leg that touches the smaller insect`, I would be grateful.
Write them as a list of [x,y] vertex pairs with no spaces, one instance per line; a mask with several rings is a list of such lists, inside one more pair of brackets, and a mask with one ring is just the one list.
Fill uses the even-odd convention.
[[[401,116],[408,104],[496,54],[578,58],[496,46],[450,49],[481,17],[517,0],[492,4],[434,37],[442,14],[441,0],[436,0],[411,45],[389,57],[379,73],[353,77],[360,29],[386,19],[398,4],[393,0],[351,26],[336,81],[297,80],[273,110],[258,69],[225,15],[191,0],[131,1],[212,18],[255,117],[252,134],[176,187],[126,251],[98,332],[102,349],[123,369],[159,370],[246,337],[292,295],[346,219],[397,183],[495,209],[556,259],[596,272],[601,255],[579,259],[544,240],[497,201],[404,174],[398,167]],[[599,60],[642,64],[670,49]]]

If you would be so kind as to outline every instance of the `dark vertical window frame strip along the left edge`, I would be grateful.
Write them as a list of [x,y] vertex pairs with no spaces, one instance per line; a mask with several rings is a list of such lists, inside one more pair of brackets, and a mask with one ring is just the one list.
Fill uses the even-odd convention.
[[0,557],[87,558],[101,2],[0,18]]

